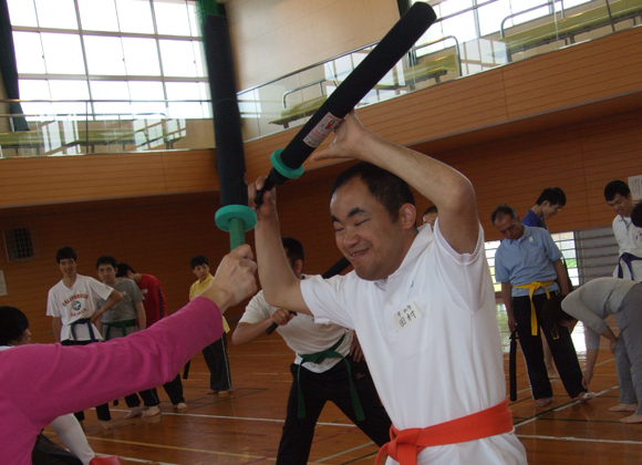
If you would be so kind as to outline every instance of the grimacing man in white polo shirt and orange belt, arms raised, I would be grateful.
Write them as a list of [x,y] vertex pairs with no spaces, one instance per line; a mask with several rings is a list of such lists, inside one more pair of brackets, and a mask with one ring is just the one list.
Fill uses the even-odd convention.
[[[393,422],[393,441],[382,448],[389,464],[413,455],[420,464],[526,464],[506,402],[470,182],[365,130],[353,113],[336,133],[311,161],[362,162],[335,179],[330,202],[336,246],[354,271],[298,280],[280,244],[275,194],[265,193],[255,237],[268,302],[356,330]],[[250,186],[250,198],[262,185]],[[434,235],[417,234],[408,185],[437,206]]]

